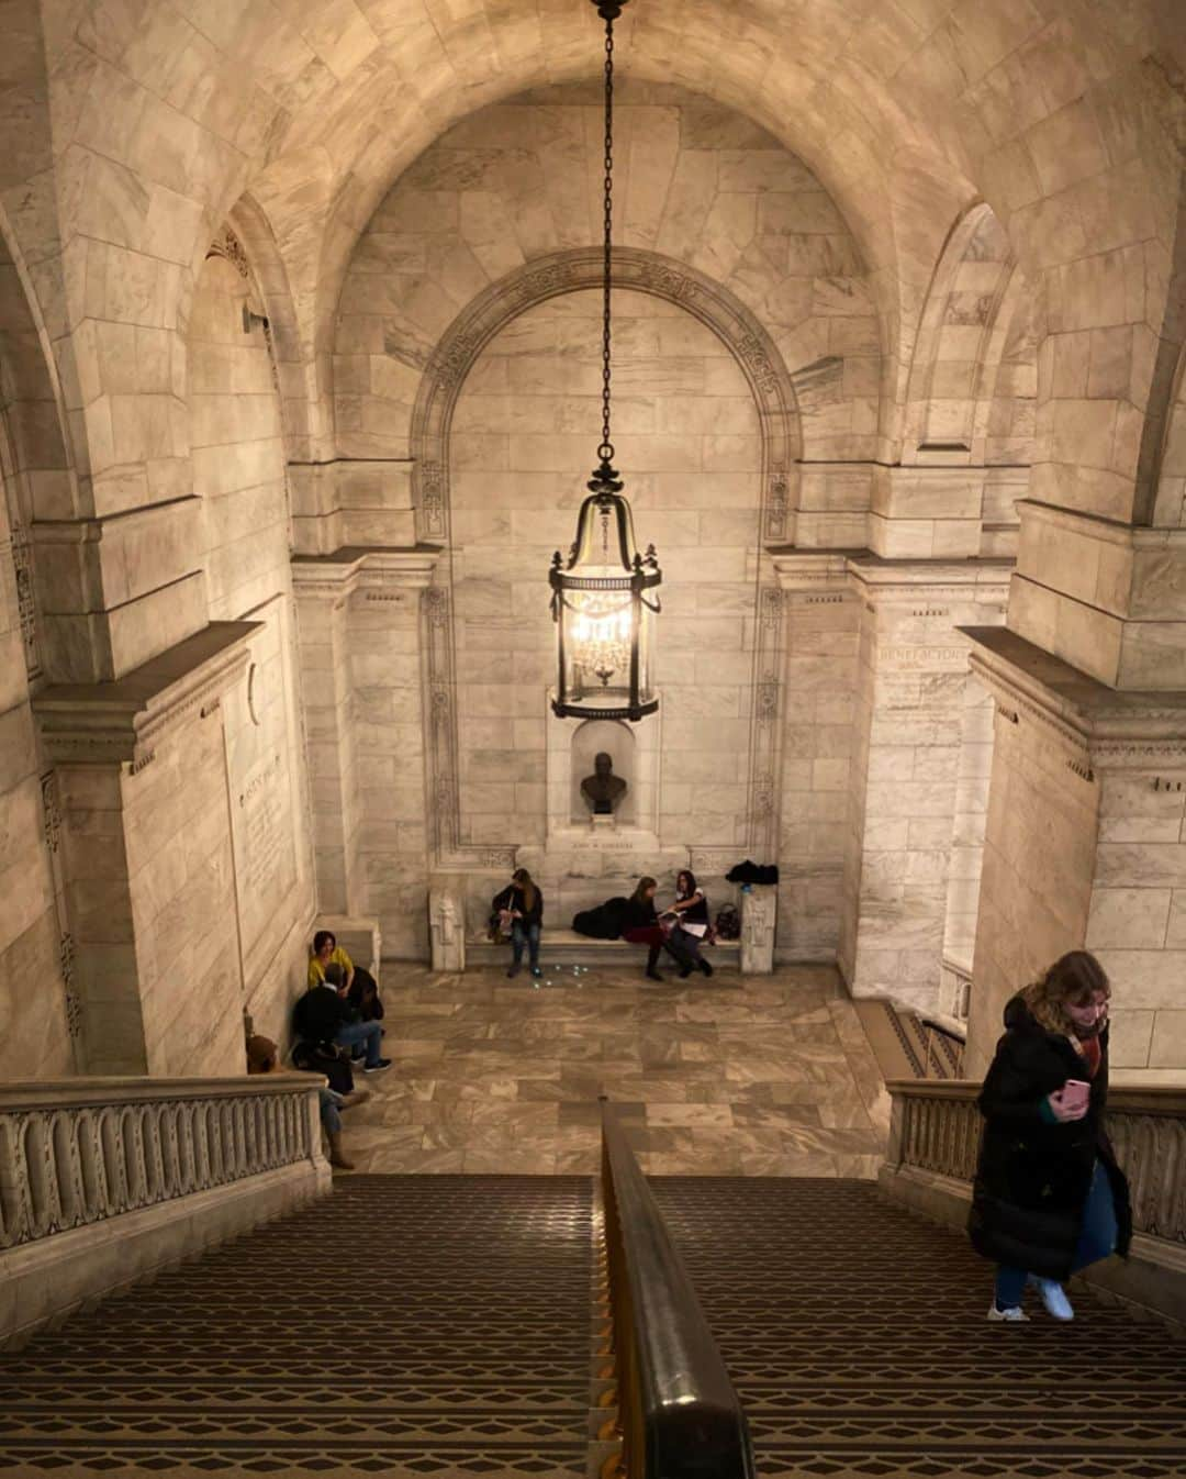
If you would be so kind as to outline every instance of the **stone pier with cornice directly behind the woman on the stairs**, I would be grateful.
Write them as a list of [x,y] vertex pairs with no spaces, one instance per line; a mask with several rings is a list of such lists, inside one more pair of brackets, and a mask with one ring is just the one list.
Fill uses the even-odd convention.
[[1112,978],[1116,1074],[1180,1077],[1186,697],[1118,692],[1012,632],[969,634],[997,705],[969,1072],[1009,995],[1085,945]]

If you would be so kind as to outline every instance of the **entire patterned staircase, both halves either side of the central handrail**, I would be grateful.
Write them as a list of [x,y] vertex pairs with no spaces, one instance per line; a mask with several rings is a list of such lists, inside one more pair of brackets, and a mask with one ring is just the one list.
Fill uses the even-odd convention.
[[[594,1479],[586,1176],[355,1176],[24,1349],[0,1475]],[[989,1325],[966,1238],[849,1179],[654,1177],[762,1479],[1182,1479],[1179,1327]]]

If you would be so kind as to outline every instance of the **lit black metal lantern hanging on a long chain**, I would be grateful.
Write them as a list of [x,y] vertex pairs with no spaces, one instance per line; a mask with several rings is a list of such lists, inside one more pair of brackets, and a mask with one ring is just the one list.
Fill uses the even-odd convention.
[[663,581],[655,546],[640,555],[630,504],[612,466],[611,288],[614,225],[614,21],[627,0],[593,0],[605,21],[605,268],[602,274],[602,439],[590,497],[577,518],[568,562],[552,556],[552,618],[559,676],[553,710],[577,719],[637,722],[660,707],[652,679],[654,618]]

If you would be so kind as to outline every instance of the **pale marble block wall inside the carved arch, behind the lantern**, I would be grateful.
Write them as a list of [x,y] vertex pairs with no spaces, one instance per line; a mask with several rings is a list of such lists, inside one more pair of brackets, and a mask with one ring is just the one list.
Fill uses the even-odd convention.
[[[599,433],[600,299],[516,318],[476,362],[453,420],[463,840],[546,840],[547,568],[568,552]],[[682,308],[618,294],[614,439],[642,549],[664,571],[658,828],[683,846],[744,846],[753,707],[757,410],[729,349]],[[623,768],[623,754],[615,756]],[[626,774],[627,781],[640,776]]]

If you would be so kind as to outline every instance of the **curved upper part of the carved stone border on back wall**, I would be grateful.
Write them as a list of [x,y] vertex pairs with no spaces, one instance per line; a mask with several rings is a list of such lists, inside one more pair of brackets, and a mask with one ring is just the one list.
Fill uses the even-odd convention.
[[[448,436],[466,376],[491,339],[513,318],[550,297],[602,282],[597,247],[558,251],[529,262],[481,293],[436,346],[411,419],[413,506],[421,543],[448,540]],[[762,420],[762,538],[793,544],[802,454],[799,405],[782,356],[757,318],[704,272],[654,251],[614,250],[614,285],[651,293],[699,319],[745,373]]]

